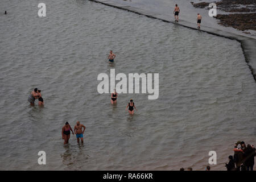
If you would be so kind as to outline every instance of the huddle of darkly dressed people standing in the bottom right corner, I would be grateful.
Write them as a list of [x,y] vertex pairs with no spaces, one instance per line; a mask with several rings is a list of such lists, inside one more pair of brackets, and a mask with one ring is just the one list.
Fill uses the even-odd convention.
[[[229,156],[229,163],[225,165],[228,171],[253,171],[255,147],[238,141],[234,146],[234,156]],[[236,166],[235,166],[236,164]]]

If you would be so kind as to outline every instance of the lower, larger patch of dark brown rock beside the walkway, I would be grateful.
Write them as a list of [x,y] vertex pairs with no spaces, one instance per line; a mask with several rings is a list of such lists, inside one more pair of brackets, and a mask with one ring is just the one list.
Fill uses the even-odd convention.
[[222,24],[225,27],[233,27],[238,30],[255,30],[256,31],[256,13],[247,14],[229,14],[216,16],[220,20],[218,24]]

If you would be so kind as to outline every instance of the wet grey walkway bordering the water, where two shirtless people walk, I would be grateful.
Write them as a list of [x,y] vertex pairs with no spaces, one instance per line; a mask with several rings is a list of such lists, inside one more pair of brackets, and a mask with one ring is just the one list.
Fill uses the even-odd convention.
[[[168,14],[168,15],[167,14],[160,14],[159,11],[156,13],[155,11],[150,10],[148,8],[148,6],[138,5],[138,3],[137,4],[136,3],[129,3],[129,1],[121,1],[121,0],[89,0],[89,1],[101,3],[103,5],[112,6],[112,7],[118,8],[118,9],[122,9],[122,10],[131,11],[133,13],[137,13],[137,14],[140,14],[140,15],[145,15],[149,18],[159,19],[159,20],[162,20],[162,21],[167,22],[167,23],[175,23],[174,21],[170,21],[170,15],[172,15],[171,13]],[[148,1],[151,2],[151,5],[154,5],[153,2],[156,2],[155,0],[148,0]],[[158,6],[158,5],[155,5],[155,6]],[[168,9],[170,9],[170,7],[168,7]],[[196,9],[195,9],[195,13],[197,13]],[[172,17],[172,19],[174,19],[174,18]],[[191,20],[191,19],[189,19],[189,20]],[[177,24],[177,23],[175,23],[175,24]],[[187,27],[187,28],[191,28],[193,30],[198,31],[197,26],[196,26],[196,22],[191,23],[191,22],[188,22],[186,20],[179,19],[179,23],[177,25]],[[207,25],[208,26],[214,26],[215,28],[214,27],[207,27],[204,24],[202,24],[201,31],[207,32],[209,34],[213,34],[213,35],[216,35],[216,36],[222,36],[224,38],[237,40],[238,42],[241,43],[241,47],[242,47],[242,50],[243,50],[243,54],[245,55],[246,63],[250,68],[250,71],[251,71],[251,74],[254,77],[254,80],[256,81],[256,39],[253,38],[252,36],[248,36],[246,34],[242,35],[241,32],[236,31],[236,30],[235,31],[232,30],[232,32],[231,31],[225,31],[225,29],[227,29],[227,28],[220,28],[220,26],[216,28],[215,24],[211,25],[209,23]]]

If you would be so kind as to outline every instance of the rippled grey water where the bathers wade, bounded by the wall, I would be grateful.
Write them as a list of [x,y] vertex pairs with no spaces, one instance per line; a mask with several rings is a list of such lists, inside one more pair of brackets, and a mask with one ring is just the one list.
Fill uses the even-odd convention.
[[[255,144],[256,84],[240,43],[86,0],[0,2],[0,169],[225,169]],[[112,49],[117,55],[109,64]],[[159,73],[159,98],[97,92],[100,73]],[[45,106],[27,97],[42,90]],[[125,107],[133,98],[138,111]],[[83,146],[61,128],[86,126]],[[46,152],[47,165],[38,164]]]

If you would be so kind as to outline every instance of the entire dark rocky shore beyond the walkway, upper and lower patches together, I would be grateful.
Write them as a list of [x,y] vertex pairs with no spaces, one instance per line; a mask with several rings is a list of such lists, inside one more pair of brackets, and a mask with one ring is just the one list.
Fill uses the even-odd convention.
[[[209,9],[209,2],[191,3],[195,8]],[[230,13],[236,12],[236,14],[228,15],[218,14],[215,17],[216,19],[220,20],[218,24],[225,27],[233,27],[241,31],[256,31],[256,0],[222,0],[214,3],[216,3],[217,9]],[[250,32],[244,33],[250,34]]]

